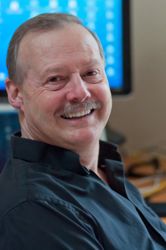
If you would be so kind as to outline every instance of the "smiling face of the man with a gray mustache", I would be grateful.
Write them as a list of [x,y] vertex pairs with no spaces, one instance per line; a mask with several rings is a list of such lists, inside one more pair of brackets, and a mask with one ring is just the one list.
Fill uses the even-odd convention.
[[104,62],[91,34],[79,25],[22,40],[25,71],[22,135],[76,150],[96,143],[109,118],[111,94]]

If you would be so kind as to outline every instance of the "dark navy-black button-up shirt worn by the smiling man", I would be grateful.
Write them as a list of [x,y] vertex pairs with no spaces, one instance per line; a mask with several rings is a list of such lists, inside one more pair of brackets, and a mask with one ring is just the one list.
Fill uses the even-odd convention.
[[165,250],[166,225],[124,177],[114,145],[100,143],[109,185],[75,153],[12,137],[0,176],[0,250]]

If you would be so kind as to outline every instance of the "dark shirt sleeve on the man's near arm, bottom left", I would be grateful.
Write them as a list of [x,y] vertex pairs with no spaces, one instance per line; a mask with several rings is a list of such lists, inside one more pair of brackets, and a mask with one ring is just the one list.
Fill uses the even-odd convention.
[[0,221],[1,250],[103,250],[79,212],[54,202],[25,202]]

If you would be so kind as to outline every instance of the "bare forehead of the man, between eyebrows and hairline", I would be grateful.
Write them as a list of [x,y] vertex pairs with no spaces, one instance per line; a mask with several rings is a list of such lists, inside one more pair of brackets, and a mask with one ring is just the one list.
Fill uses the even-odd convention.
[[98,44],[84,27],[72,24],[56,30],[29,32],[20,43],[18,57],[31,55],[31,59],[47,55],[56,59],[84,53],[89,57],[99,56]]

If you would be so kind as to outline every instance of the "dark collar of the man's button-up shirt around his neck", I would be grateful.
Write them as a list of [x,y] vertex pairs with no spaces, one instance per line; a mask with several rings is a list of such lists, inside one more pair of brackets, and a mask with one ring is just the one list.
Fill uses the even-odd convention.
[[[65,169],[80,174],[89,172],[80,164],[76,153],[44,142],[22,138],[20,132],[12,136],[11,146],[12,156],[15,159],[47,164],[57,170]],[[100,141],[99,166],[105,164],[105,159],[121,162],[117,146]]]

